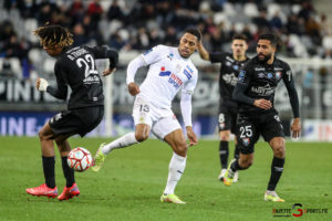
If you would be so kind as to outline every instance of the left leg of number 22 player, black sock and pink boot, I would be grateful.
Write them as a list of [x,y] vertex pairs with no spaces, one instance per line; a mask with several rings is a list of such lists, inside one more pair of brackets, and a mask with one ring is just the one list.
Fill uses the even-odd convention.
[[41,143],[42,164],[45,183],[27,189],[29,194],[33,196],[46,196],[55,198],[58,196],[58,188],[55,186],[55,172],[54,172],[54,134],[51,130],[50,124],[46,123],[39,131],[39,138]]

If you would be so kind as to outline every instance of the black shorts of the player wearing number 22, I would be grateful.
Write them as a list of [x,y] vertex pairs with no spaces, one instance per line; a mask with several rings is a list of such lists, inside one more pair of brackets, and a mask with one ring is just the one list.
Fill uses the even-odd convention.
[[103,116],[104,106],[84,107],[63,110],[49,123],[55,135],[74,133],[83,137],[101,123]]

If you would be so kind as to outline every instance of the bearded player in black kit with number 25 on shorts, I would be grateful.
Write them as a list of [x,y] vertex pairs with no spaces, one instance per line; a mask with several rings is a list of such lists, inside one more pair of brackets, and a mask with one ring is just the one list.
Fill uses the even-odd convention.
[[224,182],[230,186],[237,170],[248,169],[252,165],[253,146],[262,135],[273,150],[271,177],[264,200],[283,202],[276,192],[283,171],[286,150],[282,124],[273,106],[274,92],[280,81],[283,81],[288,90],[294,116],[291,125],[292,137],[299,137],[301,123],[292,72],[288,63],[274,56],[276,45],[274,34],[261,34],[258,39],[257,56],[249,60],[239,73],[234,98],[239,102],[237,139],[240,158],[229,164]]

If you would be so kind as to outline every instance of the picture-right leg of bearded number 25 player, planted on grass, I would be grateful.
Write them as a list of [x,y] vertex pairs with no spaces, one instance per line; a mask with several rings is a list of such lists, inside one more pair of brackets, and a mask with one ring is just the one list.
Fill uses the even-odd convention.
[[283,202],[284,200],[281,199],[276,192],[276,188],[283,172],[284,165],[286,145],[283,138],[283,127],[277,113],[267,116],[266,118],[262,136],[273,150],[273,159],[271,164],[271,176],[264,194],[264,200]]

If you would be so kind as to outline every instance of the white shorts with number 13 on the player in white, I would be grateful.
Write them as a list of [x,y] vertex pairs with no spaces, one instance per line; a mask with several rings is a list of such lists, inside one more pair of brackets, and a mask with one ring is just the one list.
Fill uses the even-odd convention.
[[176,129],[181,129],[172,109],[158,108],[139,96],[134,103],[133,118],[135,126],[137,124],[148,125],[159,139],[164,139],[166,135]]

